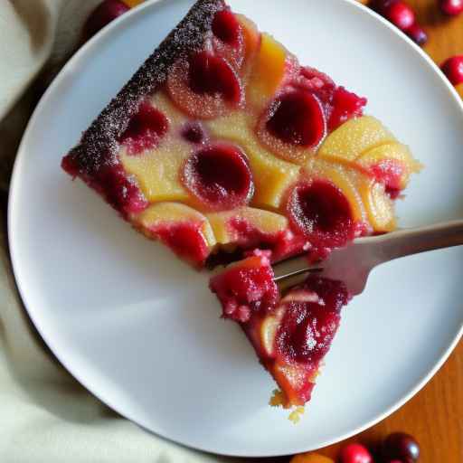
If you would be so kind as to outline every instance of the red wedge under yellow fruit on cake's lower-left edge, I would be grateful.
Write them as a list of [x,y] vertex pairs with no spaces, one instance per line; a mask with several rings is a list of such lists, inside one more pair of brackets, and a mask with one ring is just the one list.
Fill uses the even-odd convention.
[[203,223],[200,222],[166,223],[152,227],[150,231],[178,257],[202,267],[209,255],[209,247],[201,231],[202,226]]

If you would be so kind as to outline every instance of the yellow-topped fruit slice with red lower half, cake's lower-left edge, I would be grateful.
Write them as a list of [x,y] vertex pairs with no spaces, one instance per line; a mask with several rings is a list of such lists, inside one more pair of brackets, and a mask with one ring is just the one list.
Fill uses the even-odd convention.
[[149,238],[162,241],[182,259],[203,266],[216,241],[202,213],[180,203],[157,203],[137,216]]

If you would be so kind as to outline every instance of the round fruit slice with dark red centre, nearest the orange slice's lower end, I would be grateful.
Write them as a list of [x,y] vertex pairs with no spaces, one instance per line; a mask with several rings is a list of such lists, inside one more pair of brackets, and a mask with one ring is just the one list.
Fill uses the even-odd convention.
[[319,99],[307,90],[280,95],[261,118],[258,136],[277,156],[303,164],[326,136],[326,118]]

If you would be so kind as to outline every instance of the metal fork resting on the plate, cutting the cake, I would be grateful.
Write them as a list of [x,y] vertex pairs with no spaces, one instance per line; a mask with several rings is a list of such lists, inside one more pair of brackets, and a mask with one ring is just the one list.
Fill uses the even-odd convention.
[[302,282],[308,272],[345,282],[353,295],[364,291],[368,275],[377,265],[427,250],[463,245],[463,220],[392,231],[384,235],[359,238],[349,246],[310,265],[306,256],[284,260],[274,266],[275,281],[282,288]]

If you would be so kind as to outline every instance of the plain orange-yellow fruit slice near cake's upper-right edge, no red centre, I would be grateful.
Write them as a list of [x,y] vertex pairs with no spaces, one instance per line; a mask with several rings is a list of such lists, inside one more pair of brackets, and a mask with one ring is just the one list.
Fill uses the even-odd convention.
[[286,49],[268,33],[260,37],[260,49],[248,86],[248,104],[256,109],[265,108],[282,84],[287,68]]

